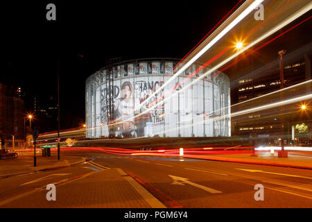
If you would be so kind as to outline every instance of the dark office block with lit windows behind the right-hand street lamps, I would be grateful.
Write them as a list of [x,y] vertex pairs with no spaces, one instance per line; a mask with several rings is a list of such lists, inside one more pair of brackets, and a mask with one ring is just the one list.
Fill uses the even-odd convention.
[[[306,80],[311,80],[311,59],[309,54],[301,56],[300,60],[287,61],[284,63],[284,88],[291,87],[298,83],[304,83]],[[279,67],[266,69],[257,75],[255,70],[254,76],[239,78],[238,80],[238,99],[241,105],[232,108],[232,112],[237,110],[247,109],[250,107],[261,104],[262,99],[252,101],[252,99],[259,96],[272,94],[281,87],[281,80],[279,76]],[[306,88],[308,86],[308,88]],[[237,90],[236,89],[236,90]],[[311,92],[311,83],[302,85],[293,90],[288,89],[284,93],[284,98],[295,96],[296,94],[306,94]],[[303,93],[304,92],[304,93]],[[293,95],[292,95],[293,94]],[[281,94],[272,94],[268,96],[272,101],[279,98]],[[261,97],[259,97],[261,98]],[[266,97],[263,97],[266,98]],[[309,103],[309,101],[306,101]],[[261,110],[259,112],[252,112],[244,116],[232,117],[232,135],[241,138],[257,137],[262,140],[262,144],[279,145],[279,139],[284,138],[284,144],[294,144],[295,137],[299,138],[300,135],[294,136],[294,129],[300,124],[307,126],[306,133],[302,137],[307,139],[311,134],[312,121],[309,116],[309,110],[302,110],[301,103],[285,105],[281,108]],[[283,115],[281,115],[283,114]],[[284,119],[282,118],[284,117]],[[284,135],[281,136],[281,122],[285,124]],[[297,129],[296,129],[297,132]],[[308,143],[308,141],[306,141]]]

